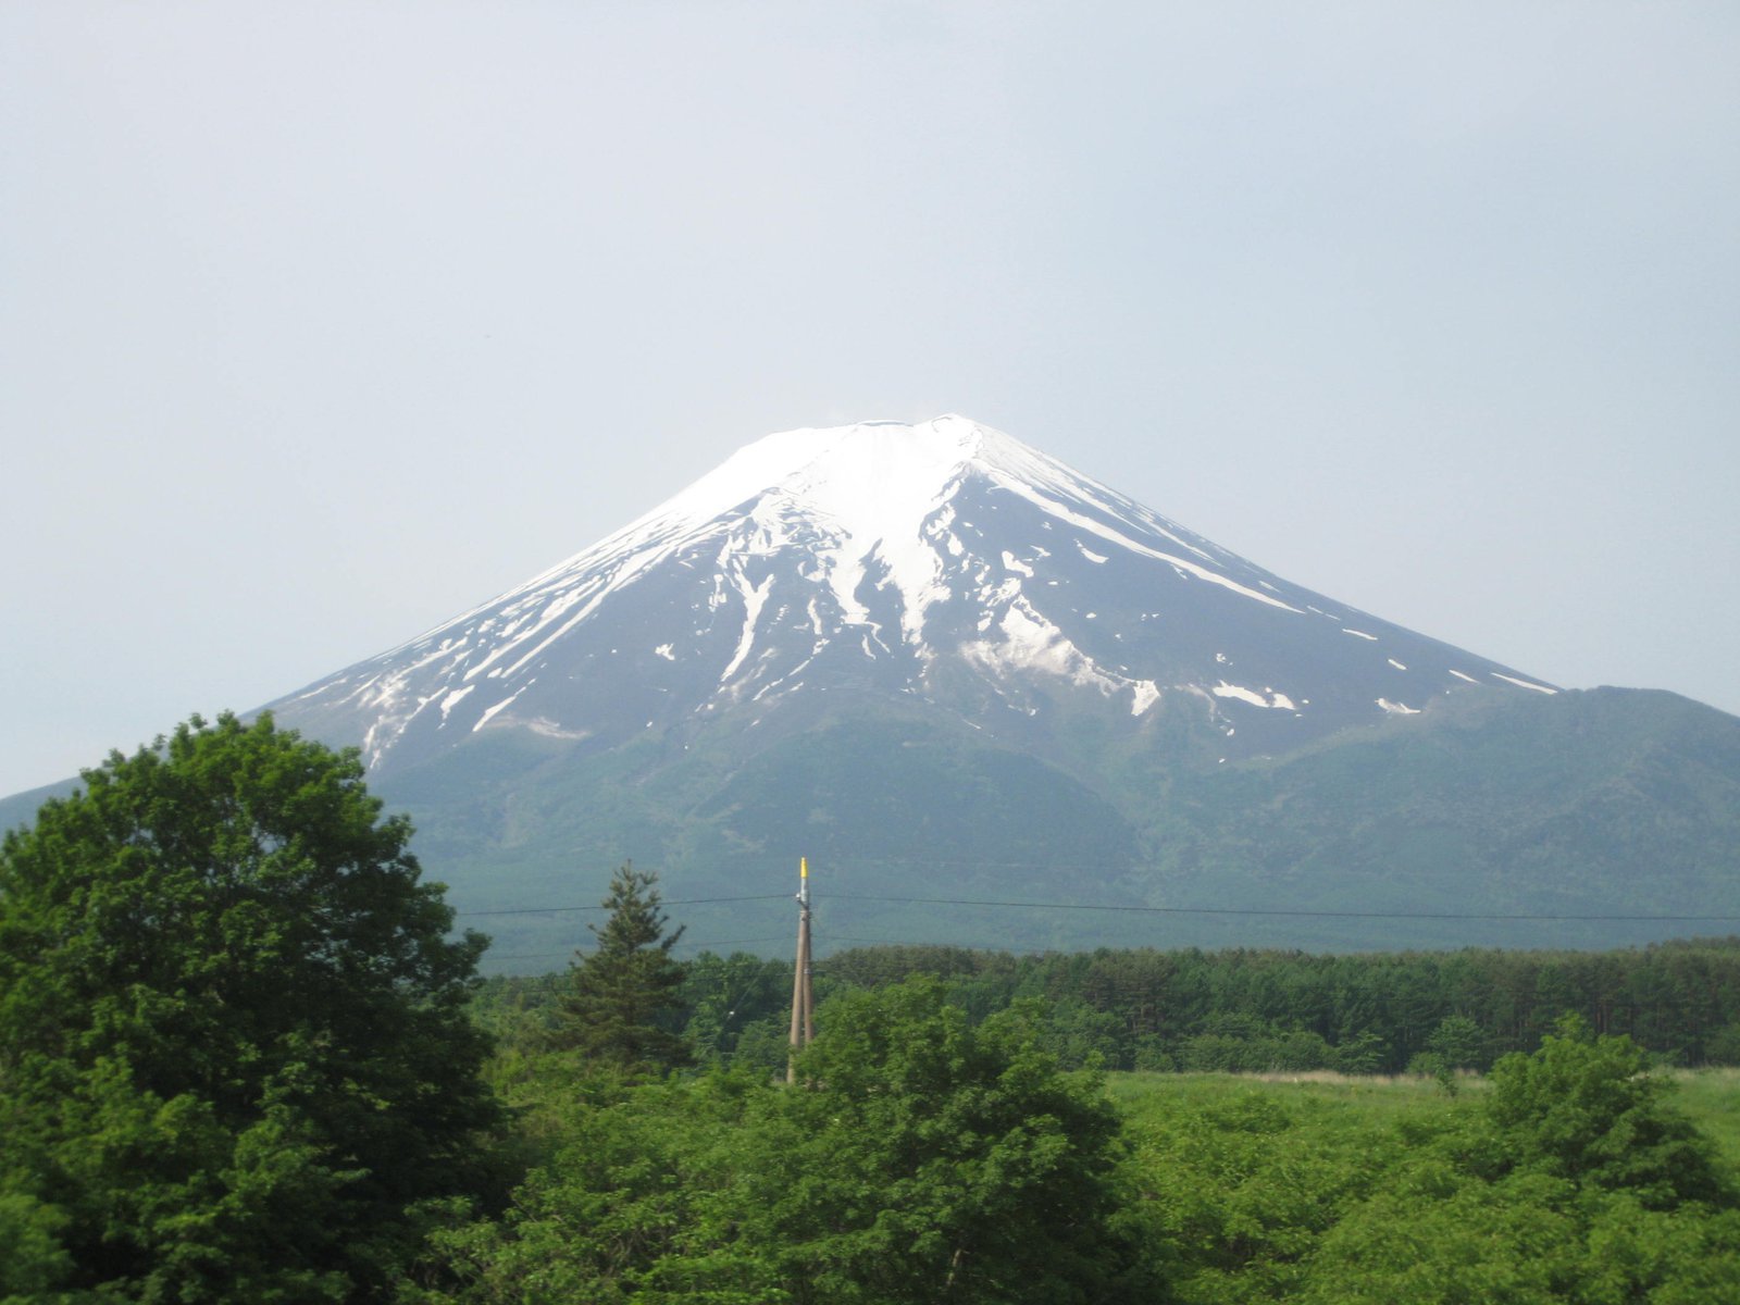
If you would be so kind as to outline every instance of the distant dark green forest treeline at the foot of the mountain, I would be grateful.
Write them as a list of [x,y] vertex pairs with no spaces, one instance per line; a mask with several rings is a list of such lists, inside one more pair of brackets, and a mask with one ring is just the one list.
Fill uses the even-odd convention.
[[[792,964],[703,952],[666,1016],[696,1054],[785,1063]],[[1098,950],[1011,955],[867,947],[816,962],[818,997],[914,974],[974,1020],[1046,1002],[1047,1049],[1107,1068],[1401,1074],[1488,1070],[1559,1020],[1623,1034],[1670,1065],[1740,1065],[1740,938],[1611,952]],[[564,978],[496,976],[475,999],[499,1035],[536,1037]]]

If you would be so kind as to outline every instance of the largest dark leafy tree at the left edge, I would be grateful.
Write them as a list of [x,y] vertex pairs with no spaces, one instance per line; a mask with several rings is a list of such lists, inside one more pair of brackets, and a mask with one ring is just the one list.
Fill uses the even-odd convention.
[[485,940],[447,938],[409,837],[353,752],[228,713],[5,835],[0,1192],[33,1272],[104,1300],[385,1295],[411,1208],[473,1181],[498,1119],[465,1014]]

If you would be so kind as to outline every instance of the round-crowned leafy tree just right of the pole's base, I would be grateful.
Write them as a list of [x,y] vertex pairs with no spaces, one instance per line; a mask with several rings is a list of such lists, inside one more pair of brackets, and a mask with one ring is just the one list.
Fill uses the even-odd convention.
[[842,994],[818,1023],[809,1086],[764,1098],[726,1206],[790,1300],[1134,1295],[1112,1218],[1117,1115],[1096,1075],[1042,1051],[1037,1006],[971,1027],[915,978]]

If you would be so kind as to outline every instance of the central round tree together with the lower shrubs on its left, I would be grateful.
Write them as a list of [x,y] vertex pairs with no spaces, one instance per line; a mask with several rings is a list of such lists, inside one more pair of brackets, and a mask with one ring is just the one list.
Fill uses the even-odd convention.
[[799,1086],[625,1088],[552,1061],[515,1091],[548,1152],[506,1216],[437,1234],[465,1302],[1117,1302],[1119,1122],[1034,1013],[971,1027],[929,980],[828,1007]]

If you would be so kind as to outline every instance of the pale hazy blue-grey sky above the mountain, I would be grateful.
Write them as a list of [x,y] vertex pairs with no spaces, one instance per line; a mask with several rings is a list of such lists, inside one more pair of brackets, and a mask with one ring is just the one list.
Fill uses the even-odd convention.
[[0,793],[964,412],[1740,710],[1733,3],[0,3]]

